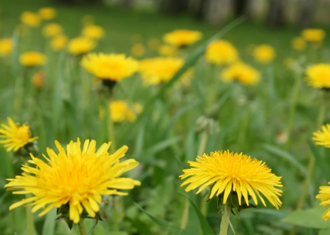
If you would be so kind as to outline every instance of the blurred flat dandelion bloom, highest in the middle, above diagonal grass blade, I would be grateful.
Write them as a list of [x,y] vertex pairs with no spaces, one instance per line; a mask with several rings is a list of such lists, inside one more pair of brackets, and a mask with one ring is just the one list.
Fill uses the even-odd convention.
[[188,29],[176,29],[172,32],[166,33],[163,36],[163,40],[174,46],[187,46],[199,41],[202,38],[200,31],[188,30]]

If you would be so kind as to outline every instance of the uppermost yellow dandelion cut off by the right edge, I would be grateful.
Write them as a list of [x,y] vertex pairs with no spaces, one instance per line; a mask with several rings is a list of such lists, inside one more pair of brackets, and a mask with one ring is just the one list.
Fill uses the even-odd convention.
[[330,64],[314,64],[305,71],[307,83],[315,88],[330,88]]

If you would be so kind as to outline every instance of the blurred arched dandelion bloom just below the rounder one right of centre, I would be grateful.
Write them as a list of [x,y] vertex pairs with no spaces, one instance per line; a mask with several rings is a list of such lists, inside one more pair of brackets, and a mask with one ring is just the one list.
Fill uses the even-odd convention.
[[260,73],[244,63],[234,63],[221,72],[224,82],[237,80],[244,85],[254,85],[260,80]]

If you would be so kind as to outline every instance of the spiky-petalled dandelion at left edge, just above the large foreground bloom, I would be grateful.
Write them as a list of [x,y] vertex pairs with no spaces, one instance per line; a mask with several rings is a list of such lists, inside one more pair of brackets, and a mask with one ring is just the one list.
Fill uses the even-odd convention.
[[4,148],[7,148],[7,152],[24,147],[28,143],[32,143],[38,137],[32,137],[31,131],[28,125],[23,124],[19,126],[14,123],[11,118],[7,118],[8,126],[1,124],[0,128],[0,144],[3,144]]

